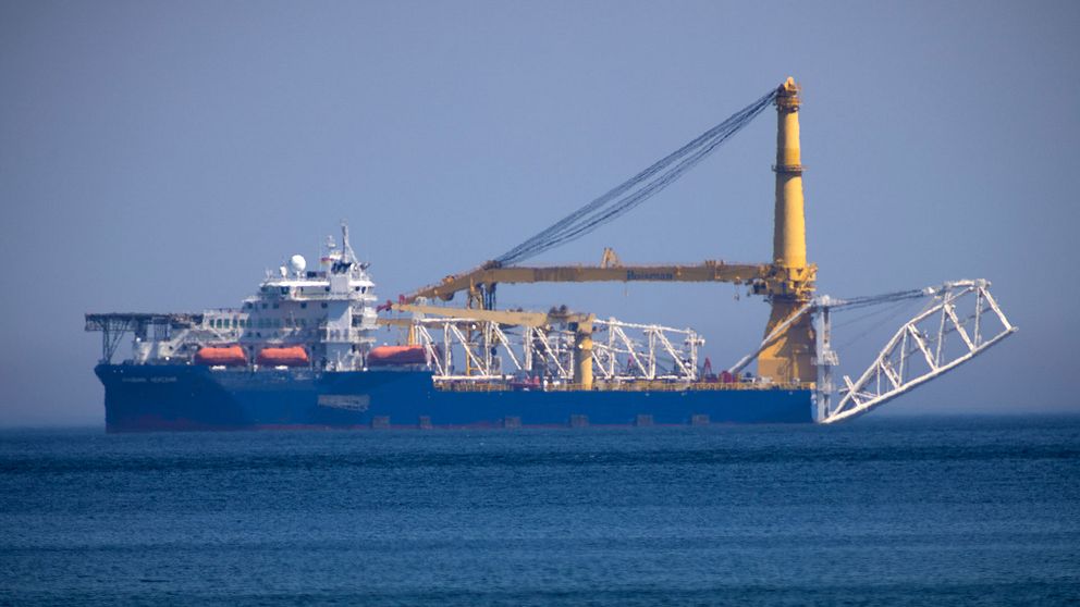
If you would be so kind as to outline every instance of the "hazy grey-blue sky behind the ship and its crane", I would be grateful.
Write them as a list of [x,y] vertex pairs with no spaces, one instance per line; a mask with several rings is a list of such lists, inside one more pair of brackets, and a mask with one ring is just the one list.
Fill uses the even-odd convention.
[[[1020,327],[874,414],[1080,412],[1078,27],[1076,2],[2,1],[0,425],[103,424],[86,312],[235,306],[343,219],[395,299],[788,75],[819,293],[985,277]],[[774,146],[768,110],[531,262],[769,261]],[[499,294],[692,326],[717,366],[768,318],[731,285]],[[845,372],[903,320],[859,330]]]

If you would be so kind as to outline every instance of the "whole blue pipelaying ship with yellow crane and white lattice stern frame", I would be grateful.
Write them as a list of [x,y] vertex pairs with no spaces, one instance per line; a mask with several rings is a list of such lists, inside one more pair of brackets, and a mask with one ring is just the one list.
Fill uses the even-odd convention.
[[[109,432],[298,428],[528,428],[834,423],[864,414],[1016,332],[984,280],[881,296],[817,295],[807,261],[798,111],[788,78],[604,196],[459,274],[380,302],[344,222],[317,268],[293,255],[236,308],[85,315],[100,332],[95,373]],[[774,259],[740,264],[599,265],[520,261],[625,213],[777,109]],[[732,283],[771,306],[764,336],[713,370],[691,329],[601,318],[565,306],[495,306],[500,284]],[[449,305],[457,294],[465,307]],[[871,364],[834,380],[834,313],[924,300]],[[394,344],[377,345],[380,334]],[[113,359],[125,337],[131,355]],[[753,371],[751,371],[751,368]]]

